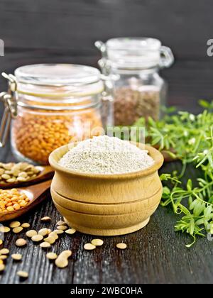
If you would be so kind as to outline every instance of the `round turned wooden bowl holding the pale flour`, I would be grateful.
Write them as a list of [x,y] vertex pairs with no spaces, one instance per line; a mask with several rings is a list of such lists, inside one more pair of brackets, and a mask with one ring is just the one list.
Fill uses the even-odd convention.
[[82,233],[115,236],[132,233],[148,223],[162,195],[158,169],[163,155],[145,145],[155,164],[146,170],[119,175],[84,174],[58,164],[69,150],[64,145],[50,154],[55,169],[53,202],[69,226]]

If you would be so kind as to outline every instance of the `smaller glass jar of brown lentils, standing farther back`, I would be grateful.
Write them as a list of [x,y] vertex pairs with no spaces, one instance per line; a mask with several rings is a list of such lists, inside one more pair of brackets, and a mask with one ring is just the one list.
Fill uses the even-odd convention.
[[173,63],[170,48],[155,38],[111,38],[97,41],[102,53],[99,65],[114,80],[114,123],[132,125],[138,118],[160,117],[167,86],[158,70]]

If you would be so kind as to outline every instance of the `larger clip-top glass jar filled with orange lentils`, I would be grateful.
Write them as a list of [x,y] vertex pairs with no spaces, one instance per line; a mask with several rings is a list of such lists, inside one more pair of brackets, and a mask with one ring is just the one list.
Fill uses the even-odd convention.
[[8,78],[16,82],[11,145],[18,160],[47,165],[55,148],[99,136],[112,124],[109,112],[102,118],[104,82],[94,67],[26,65]]

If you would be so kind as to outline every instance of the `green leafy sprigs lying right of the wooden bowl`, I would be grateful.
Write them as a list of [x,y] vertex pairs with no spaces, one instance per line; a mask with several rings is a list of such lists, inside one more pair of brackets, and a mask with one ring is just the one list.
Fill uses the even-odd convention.
[[[149,118],[146,130],[151,145],[182,162],[179,174],[160,176],[163,182],[160,204],[173,206],[174,213],[182,216],[175,224],[175,231],[192,236],[193,241],[187,247],[195,243],[197,236],[213,234],[213,101],[201,100],[200,105],[204,111],[198,115],[180,111],[174,115],[167,113],[160,121]],[[134,126],[144,123],[140,118]],[[189,179],[183,187],[181,178],[189,163],[200,168],[200,177],[195,186]]]

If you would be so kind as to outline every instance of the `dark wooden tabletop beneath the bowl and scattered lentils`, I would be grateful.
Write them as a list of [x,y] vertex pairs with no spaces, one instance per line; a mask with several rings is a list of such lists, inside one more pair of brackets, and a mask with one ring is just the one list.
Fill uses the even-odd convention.
[[[8,148],[1,150],[1,160],[11,161]],[[164,165],[163,171],[177,169],[178,162]],[[188,170],[190,177],[195,173]],[[43,227],[54,228],[60,220],[50,199],[46,200],[26,216],[21,222],[28,222],[38,231]],[[50,223],[42,223],[43,216],[50,216]],[[45,250],[28,241],[26,248],[16,248],[17,238],[26,238],[25,232],[6,234],[4,247],[10,253],[21,253],[23,261],[14,263],[11,258],[6,262],[6,270],[0,277],[1,283],[21,282],[16,276],[17,270],[29,272],[25,283],[202,283],[213,282],[213,243],[202,238],[192,248],[185,248],[190,238],[175,233],[173,226],[177,217],[170,209],[158,207],[158,210],[146,228],[126,236],[102,237],[104,245],[92,251],[83,249],[84,243],[92,236],[75,233],[62,236],[54,245],[53,251],[60,253],[64,249],[72,250],[69,266],[58,269],[45,258]],[[124,241],[128,248],[117,250],[116,243]],[[51,249],[52,250],[52,249]]]

